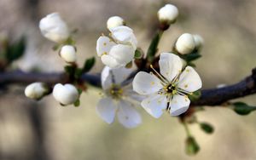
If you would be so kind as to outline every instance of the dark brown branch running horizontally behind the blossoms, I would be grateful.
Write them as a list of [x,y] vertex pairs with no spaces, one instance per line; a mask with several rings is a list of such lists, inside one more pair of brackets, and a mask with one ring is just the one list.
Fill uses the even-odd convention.
[[[85,73],[81,77],[86,83],[96,87],[101,86],[100,74]],[[66,83],[68,76],[65,73],[31,73],[24,71],[0,72],[0,86],[11,83],[29,84],[33,82],[44,82],[48,84]],[[203,89],[201,98],[191,103],[191,106],[218,106],[222,103],[236,98],[256,93],[256,68],[252,75],[246,77],[239,83],[220,89]]]

